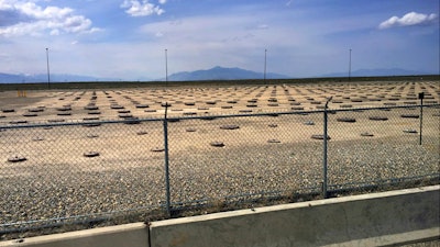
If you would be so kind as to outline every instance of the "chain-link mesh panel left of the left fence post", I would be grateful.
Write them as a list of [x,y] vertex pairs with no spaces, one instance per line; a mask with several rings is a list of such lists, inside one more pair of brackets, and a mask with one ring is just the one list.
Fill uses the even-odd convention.
[[1,224],[163,203],[162,122],[130,123],[3,128]]

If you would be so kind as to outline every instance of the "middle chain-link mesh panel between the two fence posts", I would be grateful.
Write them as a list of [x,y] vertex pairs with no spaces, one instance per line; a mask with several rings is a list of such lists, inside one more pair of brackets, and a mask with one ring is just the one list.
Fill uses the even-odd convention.
[[[173,201],[286,193],[319,187],[318,114],[182,120],[169,125]],[[311,142],[310,142],[311,141]]]

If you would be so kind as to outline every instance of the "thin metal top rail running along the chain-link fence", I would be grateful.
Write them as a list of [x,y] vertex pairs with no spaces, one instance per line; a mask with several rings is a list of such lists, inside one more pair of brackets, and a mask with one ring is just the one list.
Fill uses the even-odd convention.
[[[301,115],[301,114],[318,114],[324,112],[355,112],[355,111],[374,111],[374,110],[391,110],[391,109],[414,109],[414,108],[439,108],[437,104],[411,104],[411,105],[386,105],[375,108],[346,108],[346,109],[317,109],[310,111],[292,110],[283,112],[260,112],[260,113],[239,113],[239,114],[209,114],[209,115],[193,115],[193,116],[165,116],[160,117],[133,117],[125,120],[102,120],[102,121],[77,121],[77,122],[59,122],[59,123],[18,123],[9,125],[0,125],[0,130],[8,128],[29,128],[29,127],[56,127],[56,126],[78,126],[89,124],[130,124],[133,122],[163,122],[164,120],[213,120],[213,119],[229,119],[229,117],[255,117],[255,116],[278,116],[278,115]],[[3,123],[4,124],[4,123]]]

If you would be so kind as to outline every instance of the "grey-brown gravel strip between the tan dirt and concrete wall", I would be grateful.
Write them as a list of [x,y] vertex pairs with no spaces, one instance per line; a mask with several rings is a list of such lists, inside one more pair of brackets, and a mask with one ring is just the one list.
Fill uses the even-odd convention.
[[[330,141],[329,184],[440,172],[438,138],[427,138],[425,142],[431,145],[426,146],[405,141]],[[172,202],[262,191],[306,192],[305,188],[317,188],[322,181],[321,142],[248,146],[244,151],[238,147],[174,153],[169,168]],[[106,166],[131,164],[113,162]],[[74,169],[72,164],[40,165],[26,178],[3,177],[2,184],[2,224],[122,211],[165,201],[162,158],[100,171]]]

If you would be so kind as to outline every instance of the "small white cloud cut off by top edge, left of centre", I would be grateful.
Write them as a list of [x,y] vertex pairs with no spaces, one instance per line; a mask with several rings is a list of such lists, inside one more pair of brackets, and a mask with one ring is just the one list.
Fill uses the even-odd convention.
[[[166,3],[166,0],[161,0],[160,3]],[[125,13],[131,16],[161,15],[165,12],[161,7],[151,3],[148,0],[142,0],[142,2],[138,0],[124,0],[120,7],[127,9]]]

